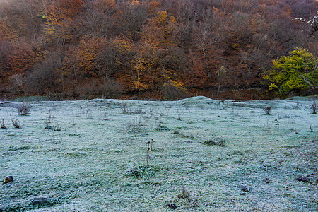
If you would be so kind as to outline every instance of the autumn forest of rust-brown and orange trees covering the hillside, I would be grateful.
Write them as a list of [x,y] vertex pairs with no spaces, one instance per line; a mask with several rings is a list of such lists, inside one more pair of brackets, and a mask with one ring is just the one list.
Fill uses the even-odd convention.
[[275,59],[317,58],[317,25],[299,19],[317,11],[314,0],[0,1],[0,100],[273,98]]

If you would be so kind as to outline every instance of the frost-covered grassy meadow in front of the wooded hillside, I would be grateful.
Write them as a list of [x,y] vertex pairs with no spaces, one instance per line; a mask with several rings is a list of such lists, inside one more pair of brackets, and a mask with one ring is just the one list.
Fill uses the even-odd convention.
[[310,102],[0,102],[0,211],[317,211]]

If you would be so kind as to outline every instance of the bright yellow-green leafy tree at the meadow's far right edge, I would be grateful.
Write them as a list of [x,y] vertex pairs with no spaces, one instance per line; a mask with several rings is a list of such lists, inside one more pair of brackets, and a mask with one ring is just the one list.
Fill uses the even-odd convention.
[[264,79],[271,82],[269,90],[283,95],[291,91],[318,86],[318,59],[303,48],[295,48],[289,56],[273,60],[272,70]]

